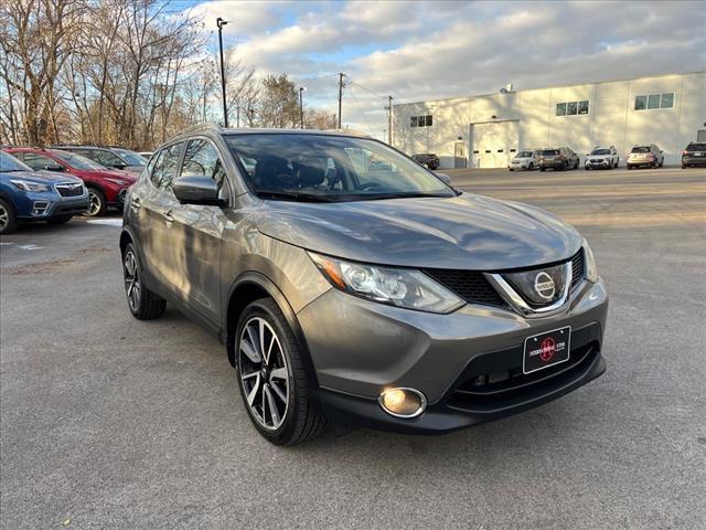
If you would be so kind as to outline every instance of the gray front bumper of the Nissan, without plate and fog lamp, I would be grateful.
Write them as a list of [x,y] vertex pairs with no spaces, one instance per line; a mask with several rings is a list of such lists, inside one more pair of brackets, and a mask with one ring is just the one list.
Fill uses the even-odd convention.
[[[435,433],[488,422],[559,398],[599,377],[608,295],[582,282],[566,309],[525,319],[468,305],[432,315],[368,303],[331,289],[298,315],[319,380],[319,400],[334,422]],[[569,361],[524,375],[524,339],[571,326]],[[474,388],[479,375],[507,378]],[[488,379],[486,379],[488,381]],[[391,386],[425,394],[416,418],[393,417],[377,404]]]

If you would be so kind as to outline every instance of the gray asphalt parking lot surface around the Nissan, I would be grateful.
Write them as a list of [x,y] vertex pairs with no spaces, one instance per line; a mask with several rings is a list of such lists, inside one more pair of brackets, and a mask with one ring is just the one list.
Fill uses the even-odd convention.
[[0,526],[705,528],[706,170],[448,173],[586,235],[606,375],[449,435],[274,447],[215,339],[130,316],[117,215],[30,226],[0,239]]

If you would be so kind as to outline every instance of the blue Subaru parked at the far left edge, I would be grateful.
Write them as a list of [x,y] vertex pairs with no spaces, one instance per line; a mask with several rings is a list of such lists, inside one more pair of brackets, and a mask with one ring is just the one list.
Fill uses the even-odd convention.
[[20,223],[62,224],[88,211],[88,192],[71,174],[33,171],[12,155],[0,151],[0,234]]

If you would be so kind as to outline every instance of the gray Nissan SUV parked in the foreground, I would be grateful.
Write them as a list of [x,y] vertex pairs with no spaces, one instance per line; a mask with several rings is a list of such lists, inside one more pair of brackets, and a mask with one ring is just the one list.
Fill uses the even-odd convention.
[[442,433],[599,377],[608,295],[580,234],[362,136],[192,129],[126,199],[128,306],[225,344],[275,444],[328,422]]

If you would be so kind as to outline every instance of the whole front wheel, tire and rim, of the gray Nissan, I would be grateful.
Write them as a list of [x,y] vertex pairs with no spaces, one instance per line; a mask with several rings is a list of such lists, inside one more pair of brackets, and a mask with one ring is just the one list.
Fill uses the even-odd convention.
[[323,431],[327,421],[309,398],[295,335],[271,298],[252,303],[240,315],[236,359],[243,403],[266,439],[293,445]]

